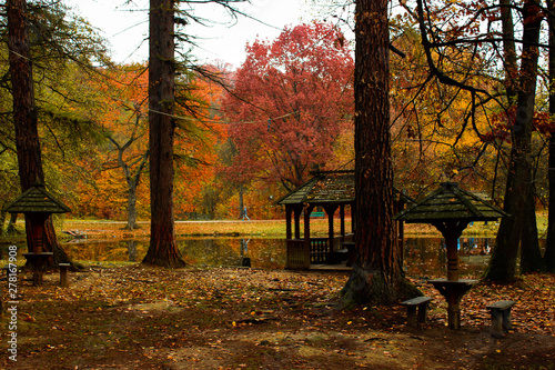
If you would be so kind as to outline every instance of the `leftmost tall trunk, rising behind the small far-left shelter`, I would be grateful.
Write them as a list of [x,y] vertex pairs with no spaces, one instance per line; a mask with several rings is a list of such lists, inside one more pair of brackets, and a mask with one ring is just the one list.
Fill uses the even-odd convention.
[[[9,63],[13,96],[13,124],[16,127],[16,148],[18,151],[19,180],[21,191],[27,191],[37,182],[44,183],[41,149],[34,106],[32,64],[30,59],[29,37],[26,23],[27,4],[24,0],[8,0]],[[27,244],[32,250],[31,228],[26,220]],[[53,264],[69,262],[69,257],[60,247],[56,237],[52,218],[44,223],[42,237],[44,251],[54,253]]]

